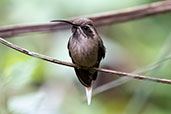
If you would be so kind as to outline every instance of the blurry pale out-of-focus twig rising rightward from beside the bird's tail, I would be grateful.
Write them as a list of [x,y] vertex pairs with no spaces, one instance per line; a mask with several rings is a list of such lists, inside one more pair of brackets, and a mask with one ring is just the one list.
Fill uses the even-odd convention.
[[[153,71],[153,70],[157,69],[158,67],[161,66],[162,63],[164,63],[164,62],[166,62],[168,60],[171,60],[171,54],[169,54],[170,49],[171,49],[171,33],[169,34],[167,40],[165,41],[164,45],[162,46],[161,52],[159,53],[160,60],[156,61],[156,62],[154,62],[152,64],[149,64],[144,68],[137,69],[137,70],[135,70],[134,72],[131,72],[131,73],[132,74],[144,74],[144,73],[147,73],[149,71]],[[103,84],[101,86],[98,86],[94,90],[93,96],[98,95],[99,93],[102,93],[102,92],[107,91],[109,89],[112,89],[112,88],[114,88],[116,86],[122,85],[122,84],[128,82],[131,79],[132,78],[130,78],[130,77],[129,78],[128,77],[122,77],[122,78],[119,78],[117,80],[108,82],[108,83]]]

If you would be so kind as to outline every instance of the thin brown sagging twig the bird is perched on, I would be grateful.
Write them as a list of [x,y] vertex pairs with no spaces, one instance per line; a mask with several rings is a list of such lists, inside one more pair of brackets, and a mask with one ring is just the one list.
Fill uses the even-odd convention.
[[[35,53],[35,52],[31,52],[29,50],[26,50],[24,48],[21,48],[17,45],[14,45],[8,41],[6,41],[3,38],[0,38],[0,43],[16,50],[19,51],[21,53],[24,53],[26,55],[32,56],[32,57],[36,57],[51,63],[55,63],[55,64],[60,64],[60,65],[65,65],[65,66],[69,66],[69,67],[76,67],[79,68],[79,66],[69,63],[69,62],[64,62],[64,61],[60,61],[57,59],[54,59],[52,57],[49,56],[45,56],[39,53]],[[168,79],[160,79],[160,78],[153,78],[153,77],[147,77],[147,76],[143,76],[143,75],[138,75],[138,74],[131,74],[131,73],[126,73],[126,72],[120,72],[120,71],[114,71],[114,70],[108,70],[108,69],[100,69],[100,68],[93,68],[93,70],[99,71],[99,72],[105,72],[105,73],[111,73],[111,74],[116,74],[119,76],[127,76],[127,77],[131,77],[131,78],[135,78],[135,79],[139,79],[139,80],[149,80],[149,81],[153,81],[153,82],[160,82],[160,83],[165,83],[165,84],[171,84],[171,80]]]

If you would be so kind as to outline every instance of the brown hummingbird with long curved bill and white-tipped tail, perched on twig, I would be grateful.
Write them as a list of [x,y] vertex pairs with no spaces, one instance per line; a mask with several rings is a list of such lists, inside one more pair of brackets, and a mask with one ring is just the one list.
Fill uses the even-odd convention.
[[89,18],[77,18],[73,21],[53,20],[51,22],[64,22],[72,25],[72,35],[68,41],[69,55],[72,62],[80,68],[74,68],[75,73],[86,89],[88,105],[91,103],[93,82],[97,78],[97,71],[102,58],[105,57],[106,48],[99,36],[93,21]]

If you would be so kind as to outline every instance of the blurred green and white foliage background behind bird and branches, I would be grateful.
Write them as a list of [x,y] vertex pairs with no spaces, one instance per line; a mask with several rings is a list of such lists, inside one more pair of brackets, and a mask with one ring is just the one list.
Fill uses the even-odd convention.
[[[47,23],[157,0],[0,0],[0,26]],[[171,79],[171,14],[98,28],[107,48],[101,67]],[[7,39],[71,62],[70,30]],[[128,81],[129,80],[129,81]],[[126,83],[125,83],[126,82]],[[99,73],[92,104],[74,70],[0,44],[0,114],[170,114],[171,85]]]

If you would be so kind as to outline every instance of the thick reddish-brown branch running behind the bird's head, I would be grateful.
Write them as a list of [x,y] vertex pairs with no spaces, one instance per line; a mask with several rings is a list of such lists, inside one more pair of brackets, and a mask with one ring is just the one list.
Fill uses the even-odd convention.
[[[117,12],[114,11],[86,17],[92,19],[96,26],[104,26],[109,24],[128,22],[135,19],[142,19],[145,17],[168,12],[171,12],[171,0],[155,2],[143,6],[128,8]],[[12,37],[31,32],[50,32],[67,28],[69,28],[69,26],[64,23],[48,23],[40,25],[2,27],[0,28],[0,37]]]

